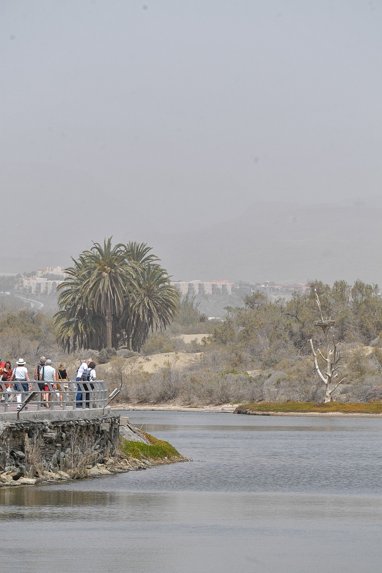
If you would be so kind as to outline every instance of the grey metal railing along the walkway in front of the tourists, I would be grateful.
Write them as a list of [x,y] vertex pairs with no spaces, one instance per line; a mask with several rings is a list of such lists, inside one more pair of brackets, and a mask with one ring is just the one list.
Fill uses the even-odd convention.
[[[52,382],[0,382],[0,413],[28,408],[37,411],[85,410],[108,405],[108,389],[104,380],[59,384],[60,390]],[[44,387],[48,387],[48,390]]]

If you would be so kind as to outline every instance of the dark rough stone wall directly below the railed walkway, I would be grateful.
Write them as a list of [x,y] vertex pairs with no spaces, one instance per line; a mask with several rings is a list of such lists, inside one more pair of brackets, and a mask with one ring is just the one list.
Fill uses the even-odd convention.
[[115,456],[118,442],[119,416],[112,414],[0,422],[0,482],[85,477]]

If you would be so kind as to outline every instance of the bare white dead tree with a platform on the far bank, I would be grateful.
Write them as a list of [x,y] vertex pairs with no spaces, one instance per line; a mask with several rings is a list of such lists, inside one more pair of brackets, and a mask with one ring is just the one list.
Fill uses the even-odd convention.
[[[318,298],[316,289],[314,289],[314,292],[316,293],[316,302],[318,305],[318,311],[320,312],[321,316],[321,320],[316,320],[314,322],[314,326],[319,326],[320,328],[322,328],[322,331],[324,332],[325,343],[326,343],[326,356],[321,352],[320,348],[317,348],[317,352],[318,354],[320,354],[320,356],[322,356],[322,358],[326,362],[326,371],[322,372],[320,364],[318,364],[318,356],[317,352],[314,350],[312,339],[310,339],[310,348],[312,348],[312,354],[314,359],[314,366],[316,367],[316,372],[326,386],[326,392],[325,392],[325,403],[326,403],[332,401],[332,394],[334,390],[336,390],[336,388],[340,386],[342,382],[344,382],[345,378],[342,378],[340,382],[334,383],[334,380],[336,380],[338,376],[337,370],[338,368],[340,368],[340,365],[338,363],[341,360],[341,352],[338,346],[338,342],[337,343],[335,342],[334,335],[332,339],[330,339],[329,336],[335,321],[330,320],[330,318],[328,320],[324,320],[321,311],[320,299]],[[332,386],[333,384],[334,386]]]

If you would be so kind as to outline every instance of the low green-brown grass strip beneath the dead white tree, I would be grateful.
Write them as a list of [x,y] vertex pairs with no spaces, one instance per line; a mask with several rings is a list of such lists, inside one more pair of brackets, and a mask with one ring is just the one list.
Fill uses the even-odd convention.
[[235,414],[249,412],[342,412],[344,414],[382,414],[382,401],[376,400],[367,404],[359,402],[329,402],[317,404],[314,402],[261,402],[242,404],[235,410]]

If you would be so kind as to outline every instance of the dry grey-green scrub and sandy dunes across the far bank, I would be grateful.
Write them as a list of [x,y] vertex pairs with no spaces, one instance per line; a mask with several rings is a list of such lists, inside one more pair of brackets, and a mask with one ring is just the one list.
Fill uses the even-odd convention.
[[[59,325],[55,327],[43,311],[25,305],[2,307],[0,350],[3,359],[23,356],[29,365],[41,354],[49,355],[53,362],[62,359],[72,376],[80,359],[91,352],[97,363],[97,378],[121,389],[121,403],[318,404],[324,402],[326,388],[316,374],[310,339],[318,367],[325,372],[328,365],[325,332],[314,325],[320,317],[316,289],[322,315],[334,321],[329,340],[334,335],[341,348],[336,360],[341,356],[337,365],[341,365],[340,379],[345,380],[332,392],[332,399],[337,404],[381,399],[379,288],[361,281],[354,285],[337,281],[333,286],[311,281],[309,287],[308,292],[296,293],[290,301],[270,301],[254,292],[245,297],[242,308],[230,308],[225,321],[206,320],[195,300],[185,297],[178,300],[166,330],[156,330],[153,323],[153,331],[149,329],[139,352],[127,345],[118,350],[94,346],[73,350],[70,344],[65,353],[56,340]],[[106,323],[102,320],[105,340]]]

